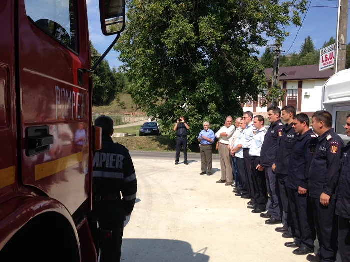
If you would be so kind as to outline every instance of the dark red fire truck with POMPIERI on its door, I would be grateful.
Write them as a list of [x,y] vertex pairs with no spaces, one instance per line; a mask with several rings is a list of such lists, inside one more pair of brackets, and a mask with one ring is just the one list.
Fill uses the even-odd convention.
[[91,68],[85,0],[0,1],[1,262],[96,261],[90,72],[125,27],[125,0],[99,4],[116,38]]

